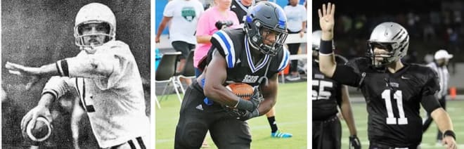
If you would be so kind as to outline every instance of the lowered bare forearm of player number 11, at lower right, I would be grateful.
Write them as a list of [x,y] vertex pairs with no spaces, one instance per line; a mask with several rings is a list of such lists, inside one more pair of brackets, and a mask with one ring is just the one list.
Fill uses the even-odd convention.
[[453,132],[453,122],[451,122],[448,112],[443,108],[437,108],[433,110],[431,116],[435,123],[437,123],[438,129],[443,132],[442,143],[446,145],[446,148],[457,148],[456,134]]

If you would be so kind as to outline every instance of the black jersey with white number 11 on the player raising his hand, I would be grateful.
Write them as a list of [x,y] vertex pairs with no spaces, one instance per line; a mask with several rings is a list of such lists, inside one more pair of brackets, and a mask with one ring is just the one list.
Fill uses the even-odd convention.
[[[351,67],[346,69],[346,67]],[[343,68],[343,69],[342,69]],[[335,70],[333,79],[361,89],[367,103],[371,142],[404,147],[422,140],[420,103],[439,89],[437,74],[429,67],[405,64],[394,74],[375,70],[368,58],[350,60]],[[353,73],[354,72],[354,73]],[[434,100],[434,99],[431,99]]]

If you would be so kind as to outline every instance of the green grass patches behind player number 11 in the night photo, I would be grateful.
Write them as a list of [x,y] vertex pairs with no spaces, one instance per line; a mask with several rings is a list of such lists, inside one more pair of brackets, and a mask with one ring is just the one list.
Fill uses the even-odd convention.
[[[456,132],[456,139],[458,148],[464,148],[464,101],[447,101],[446,110],[449,112],[451,120],[453,121],[454,131]],[[367,138],[367,112],[366,103],[352,103],[353,115],[356,122],[356,129],[358,136],[361,140],[363,148],[368,148]],[[423,110],[421,110],[423,112]],[[423,113],[423,116],[425,114]],[[342,148],[347,148],[349,131],[346,122],[342,121]],[[421,148],[443,148],[436,145],[437,141],[437,125],[432,122],[429,129],[423,134],[423,143]]]

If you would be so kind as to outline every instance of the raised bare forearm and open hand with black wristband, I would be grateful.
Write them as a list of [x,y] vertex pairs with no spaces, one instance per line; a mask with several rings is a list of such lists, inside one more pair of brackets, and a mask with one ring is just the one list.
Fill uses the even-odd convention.
[[322,5],[318,9],[319,25],[321,25],[321,48],[319,50],[319,69],[327,77],[332,77],[335,72],[335,56],[333,54],[333,26],[335,25],[335,4]]

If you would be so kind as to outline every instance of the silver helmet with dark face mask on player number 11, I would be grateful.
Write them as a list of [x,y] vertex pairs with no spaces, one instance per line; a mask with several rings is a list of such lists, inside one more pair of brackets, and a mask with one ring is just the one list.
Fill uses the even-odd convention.
[[[397,62],[408,52],[408,31],[396,22],[382,22],[374,28],[368,40],[367,56],[371,58],[375,67],[383,67]],[[375,62],[374,46],[385,48],[389,57],[383,58],[381,62]]]

